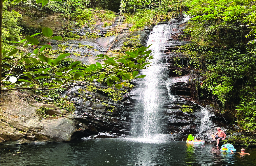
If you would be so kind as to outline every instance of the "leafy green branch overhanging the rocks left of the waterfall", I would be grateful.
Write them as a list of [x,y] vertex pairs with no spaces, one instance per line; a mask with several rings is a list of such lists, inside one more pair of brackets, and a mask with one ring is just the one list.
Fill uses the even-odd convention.
[[[61,39],[58,36],[52,37],[53,33],[50,28],[43,28],[42,33],[51,39]],[[23,44],[23,47],[29,46],[29,44],[38,45],[39,42],[34,38],[35,35],[26,36],[21,42],[16,43]],[[11,52],[3,51],[1,75],[5,78],[1,80],[2,91],[14,89],[51,90],[69,87],[68,84],[76,80],[91,82],[94,79],[110,86],[115,84],[119,89],[122,86],[121,80],[129,81],[133,78],[144,77],[145,75],[137,76],[139,72],[136,70],[146,68],[146,65],[149,64],[146,62],[147,59],[152,58],[149,55],[151,51],[146,51],[148,47],[141,47],[136,51],[126,52],[127,55],[123,55],[117,60],[115,57],[98,55],[98,59],[105,62],[103,65],[96,62],[96,64],[85,66],[80,61],[75,61],[68,63],[69,66],[62,67],[59,64],[62,61],[67,62],[64,58],[69,56],[69,53],[60,54],[57,58],[52,59],[43,54],[47,48],[52,48],[51,45],[43,44],[39,48],[35,47],[33,54],[24,53],[18,49],[13,49]],[[31,55],[37,55],[38,59]],[[14,70],[14,67],[18,65],[22,66],[23,71]],[[55,97],[55,93],[53,94],[52,97]]]

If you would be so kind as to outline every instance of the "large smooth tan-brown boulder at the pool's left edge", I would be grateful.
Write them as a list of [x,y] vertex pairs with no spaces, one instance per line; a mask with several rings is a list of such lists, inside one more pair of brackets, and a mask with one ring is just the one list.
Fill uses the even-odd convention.
[[[88,133],[87,136],[97,133],[91,126],[77,122],[74,114],[51,104],[39,103],[33,97],[26,92],[2,92],[1,142],[62,142],[71,141],[80,133]],[[45,112],[47,117],[38,112],[40,108],[51,108]]]

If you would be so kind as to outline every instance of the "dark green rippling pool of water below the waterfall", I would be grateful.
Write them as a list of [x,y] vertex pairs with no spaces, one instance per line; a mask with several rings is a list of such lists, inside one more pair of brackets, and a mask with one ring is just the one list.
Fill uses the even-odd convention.
[[85,139],[71,143],[1,145],[1,166],[256,166],[256,149],[245,149],[250,156],[220,152],[211,144]]

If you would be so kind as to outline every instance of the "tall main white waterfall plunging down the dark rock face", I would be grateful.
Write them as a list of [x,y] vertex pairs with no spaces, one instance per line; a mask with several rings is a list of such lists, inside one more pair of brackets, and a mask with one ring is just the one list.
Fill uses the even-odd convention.
[[[175,98],[171,95],[168,82],[168,68],[162,63],[165,53],[162,50],[166,43],[171,40],[171,35],[177,33],[177,28],[180,24],[186,22],[189,18],[184,17],[179,23],[161,24],[154,26],[149,35],[147,46],[152,51],[154,59],[151,59],[151,66],[141,71],[145,74],[140,82],[140,92],[136,107],[137,117],[134,119],[132,128],[133,136],[146,139],[157,139],[157,135],[162,133],[164,124],[164,115],[162,114],[162,106],[160,103],[166,101],[169,96],[169,101],[174,101]],[[168,43],[170,46],[170,43]],[[167,88],[166,88],[167,87]]]

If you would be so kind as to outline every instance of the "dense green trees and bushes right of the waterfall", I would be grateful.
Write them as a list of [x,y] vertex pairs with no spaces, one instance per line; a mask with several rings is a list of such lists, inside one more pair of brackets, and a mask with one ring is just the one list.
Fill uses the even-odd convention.
[[188,67],[203,76],[201,91],[216,98],[222,110],[237,114],[245,129],[256,127],[255,3],[232,0],[191,0],[193,16],[182,47]]

